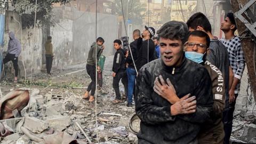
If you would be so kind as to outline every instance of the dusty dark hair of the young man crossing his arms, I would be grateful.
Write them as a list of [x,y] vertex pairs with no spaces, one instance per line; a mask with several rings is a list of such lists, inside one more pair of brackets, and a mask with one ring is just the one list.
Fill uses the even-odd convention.
[[182,44],[188,40],[188,27],[184,22],[169,21],[157,30],[158,37],[168,39],[180,39]]

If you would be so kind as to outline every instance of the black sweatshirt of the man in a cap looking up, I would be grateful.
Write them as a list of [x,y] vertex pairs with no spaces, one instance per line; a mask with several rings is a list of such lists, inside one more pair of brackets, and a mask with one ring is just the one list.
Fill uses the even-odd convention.
[[141,47],[138,52],[138,66],[137,69],[139,70],[142,66],[146,63],[154,60],[154,52],[155,52],[155,44],[152,39],[147,39],[143,41]]

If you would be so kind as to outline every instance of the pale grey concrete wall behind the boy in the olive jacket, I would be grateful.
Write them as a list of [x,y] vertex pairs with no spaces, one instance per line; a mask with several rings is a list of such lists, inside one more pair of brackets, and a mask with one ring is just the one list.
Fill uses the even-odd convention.
[[[86,62],[90,46],[95,42],[95,13],[82,12],[68,6],[56,7],[56,26],[51,27],[55,59],[53,66]],[[105,55],[114,54],[113,41],[117,38],[117,17],[98,13],[97,37],[105,39]]]

